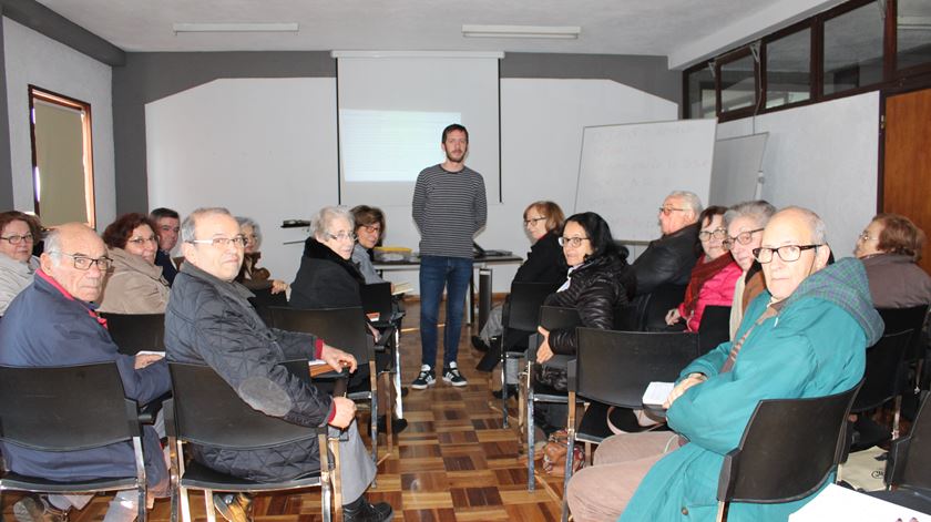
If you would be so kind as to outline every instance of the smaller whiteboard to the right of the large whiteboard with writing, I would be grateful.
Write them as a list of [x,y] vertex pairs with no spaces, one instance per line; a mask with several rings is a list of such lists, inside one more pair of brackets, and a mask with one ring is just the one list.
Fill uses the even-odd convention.
[[759,198],[759,172],[768,137],[764,132],[715,142],[708,205],[733,206]]

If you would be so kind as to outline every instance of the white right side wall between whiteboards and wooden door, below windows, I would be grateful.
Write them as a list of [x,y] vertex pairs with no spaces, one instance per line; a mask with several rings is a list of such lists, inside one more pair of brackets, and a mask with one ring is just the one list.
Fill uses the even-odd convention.
[[763,197],[817,212],[835,257],[850,256],[877,208],[879,93],[723,123],[717,137],[754,131],[769,133]]

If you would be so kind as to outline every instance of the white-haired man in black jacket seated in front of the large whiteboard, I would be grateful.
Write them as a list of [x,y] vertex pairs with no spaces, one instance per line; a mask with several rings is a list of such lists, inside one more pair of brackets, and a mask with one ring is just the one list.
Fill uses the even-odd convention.
[[634,262],[637,295],[649,294],[663,285],[687,285],[698,259],[698,214],[702,199],[695,194],[676,191],[659,207],[659,231],[663,236],[649,242]]

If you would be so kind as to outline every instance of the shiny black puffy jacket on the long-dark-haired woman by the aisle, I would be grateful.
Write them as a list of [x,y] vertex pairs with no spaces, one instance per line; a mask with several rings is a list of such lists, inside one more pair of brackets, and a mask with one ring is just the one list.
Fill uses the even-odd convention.
[[[614,326],[614,313],[634,296],[636,279],[627,264],[627,254],[605,255],[586,260],[569,276],[569,288],[551,294],[548,306],[575,308],[582,325],[608,330]],[[573,355],[579,348],[575,328],[550,331],[550,348],[555,354]]]

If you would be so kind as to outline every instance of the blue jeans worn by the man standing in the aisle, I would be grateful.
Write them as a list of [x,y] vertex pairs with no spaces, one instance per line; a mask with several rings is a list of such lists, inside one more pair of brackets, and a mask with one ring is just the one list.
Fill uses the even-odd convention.
[[443,287],[447,289],[447,317],[443,335],[443,367],[459,355],[459,336],[466,293],[472,278],[472,259],[462,257],[423,256],[420,258],[420,341],[421,364],[437,367],[437,320]]

